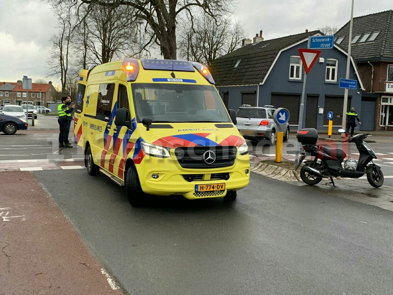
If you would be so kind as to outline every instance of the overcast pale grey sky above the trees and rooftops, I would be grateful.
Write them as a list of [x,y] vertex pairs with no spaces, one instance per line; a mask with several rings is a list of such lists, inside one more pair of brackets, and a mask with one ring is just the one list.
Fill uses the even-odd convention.
[[[393,9],[392,0],[354,0],[354,17]],[[252,39],[263,30],[265,40],[315,30],[341,28],[351,17],[351,0],[237,0],[239,18]],[[28,75],[46,79],[49,39],[56,18],[40,0],[0,0],[0,82],[16,82]],[[158,57],[160,58],[160,57]]]

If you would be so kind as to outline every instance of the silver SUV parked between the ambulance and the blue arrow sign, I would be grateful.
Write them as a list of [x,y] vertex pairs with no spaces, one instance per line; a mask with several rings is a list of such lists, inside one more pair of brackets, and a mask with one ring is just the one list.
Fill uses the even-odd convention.
[[[277,125],[273,120],[275,107],[264,105],[263,107],[252,107],[242,105],[236,112],[236,127],[244,138],[249,140],[267,139],[270,144],[275,143]],[[289,123],[284,125],[284,141],[288,140]]]

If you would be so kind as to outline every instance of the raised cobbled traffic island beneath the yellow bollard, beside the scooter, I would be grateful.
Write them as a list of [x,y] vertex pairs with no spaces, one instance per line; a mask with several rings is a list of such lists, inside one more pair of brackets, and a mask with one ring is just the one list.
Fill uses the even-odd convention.
[[300,169],[294,171],[294,163],[289,161],[276,163],[274,160],[261,160],[251,171],[280,181],[301,181]]

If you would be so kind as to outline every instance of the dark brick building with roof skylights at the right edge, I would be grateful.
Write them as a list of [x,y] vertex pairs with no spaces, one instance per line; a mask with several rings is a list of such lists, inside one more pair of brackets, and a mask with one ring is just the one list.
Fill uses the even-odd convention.
[[[335,35],[347,50],[349,22]],[[365,88],[360,130],[393,130],[393,10],[353,19],[351,54]]]

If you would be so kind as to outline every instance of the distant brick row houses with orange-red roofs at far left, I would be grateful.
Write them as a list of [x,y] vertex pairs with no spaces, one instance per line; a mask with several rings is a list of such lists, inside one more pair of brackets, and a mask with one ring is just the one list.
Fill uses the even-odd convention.
[[16,83],[0,82],[1,105],[22,105],[28,101],[33,105],[50,107],[51,102],[56,102],[56,95],[57,92],[51,81],[48,84],[32,83],[32,89],[29,90],[22,88],[21,80]]

